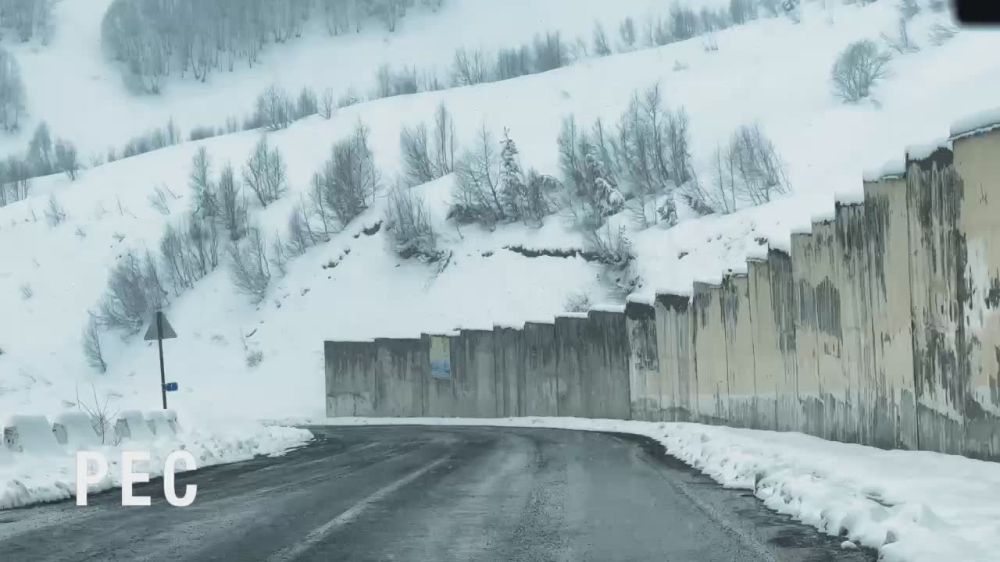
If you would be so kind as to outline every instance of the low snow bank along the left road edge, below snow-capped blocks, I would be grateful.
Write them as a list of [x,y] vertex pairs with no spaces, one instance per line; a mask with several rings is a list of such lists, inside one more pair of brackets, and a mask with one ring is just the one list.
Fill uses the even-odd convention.
[[[181,428],[175,436],[151,442],[123,441],[117,446],[85,447],[108,460],[108,476],[90,486],[91,493],[121,485],[120,459],[123,451],[148,451],[150,462],[135,470],[161,476],[163,461],[173,451],[185,449],[197,460],[198,468],[237,462],[257,455],[279,455],[312,439],[304,429],[245,423],[209,429]],[[182,465],[178,471],[183,470]],[[76,494],[76,450],[59,447],[47,454],[10,453],[0,446],[0,510],[33,503],[64,500]]]

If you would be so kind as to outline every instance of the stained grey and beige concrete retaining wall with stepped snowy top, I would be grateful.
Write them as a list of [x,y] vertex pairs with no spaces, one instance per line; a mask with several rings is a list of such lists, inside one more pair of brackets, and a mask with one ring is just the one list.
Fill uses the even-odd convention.
[[697,421],[1000,458],[1000,127],[863,188],[690,297],[463,331],[450,380],[429,380],[426,341],[327,342],[328,412]]

